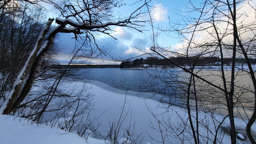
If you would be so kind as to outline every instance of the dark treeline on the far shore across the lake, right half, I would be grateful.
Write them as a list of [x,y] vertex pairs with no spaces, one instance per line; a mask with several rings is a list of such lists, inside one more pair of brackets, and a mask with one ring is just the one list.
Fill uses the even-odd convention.
[[[171,57],[169,60],[159,59],[157,57],[147,57],[146,59],[140,58],[133,61],[122,61],[121,68],[147,68],[147,67],[175,67],[170,61],[180,66],[218,66],[220,63],[219,57],[202,57],[202,58],[187,58],[187,57]],[[229,65],[232,63],[232,58],[224,58],[224,64]],[[251,59],[252,64],[256,64],[256,59]],[[243,65],[245,60],[243,58],[236,58],[237,65]]]

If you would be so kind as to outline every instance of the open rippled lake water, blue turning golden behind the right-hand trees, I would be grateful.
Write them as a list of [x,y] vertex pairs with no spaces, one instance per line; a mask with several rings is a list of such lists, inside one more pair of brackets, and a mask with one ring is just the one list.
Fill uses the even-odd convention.
[[[173,101],[176,97],[186,97],[188,78],[190,77],[188,73],[181,70],[125,70],[109,68],[81,69],[76,71],[82,75],[86,73],[85,79],[87,80],[103,82],[117,89],[161,94],[164,96],[165,101],[168,101],[170,98]],[[225,71],[225,73],[227,84],[229,85],[231,71]],[[223,88],[220,71],[200,71],[197,75]],[[183,81],[183,83],[179,83],[179,81]],[[198,79],[195,79],[195,84],[195,91],[199,100],[216,104],[226,103],[224,92],[221,90]],[[235,85],[234,101],[238,102],[236,106],[252,109],[254,107],[254,95],[250,92],[253,85],[249,75],[245,72],[237,72]],[[194,89],[192,88],[190,92],[193,94]],[[191,96],[193,97],[193,95]]]

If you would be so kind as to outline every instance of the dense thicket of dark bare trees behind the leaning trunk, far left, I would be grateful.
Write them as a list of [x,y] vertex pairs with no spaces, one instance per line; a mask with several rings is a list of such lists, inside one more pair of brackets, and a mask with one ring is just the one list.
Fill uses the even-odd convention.
[[7,5],[0,9],[0,99],[12,87],[15,77],[33,49],[44,16],[29,5]]

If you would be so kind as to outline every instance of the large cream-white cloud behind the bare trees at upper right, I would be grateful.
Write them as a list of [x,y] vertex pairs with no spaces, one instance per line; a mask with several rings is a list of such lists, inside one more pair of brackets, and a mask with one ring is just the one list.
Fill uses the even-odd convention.
[[[250,1],[251,2],[251,1]],[[250,3],[251,5],[255,6],[256,2]],[[230,16],[229,11],[223,11],[225,14]],[[237,27],[239,31],[240,39],[244,42],[247,42],[249,39],[253,39],[255,36],[255,29],[254,26],[256,25],[256,17],[255,17],[255,11],[254,9],[247,3],[243,3],[241,5],[237,6]],[[218,16],[218,15],[217,15]],[[221,38],[221,42],[225,43],[226,45],[232,45],[233,44],[233,27],[232,27],[232,19],[229,17],[221,16],[219,17],[218,21],[217,18],[215,19],[215,26],[217,27],[219,37]],[[250,27],[250,28],[249,28]],[[190,33],[183,33],[183,36],[185,38],[183,39],[183,43],[177,44],[173,46],[173,50],[177,53],[184,53],[184,48],[187,48],[187,44],[189,43],[192,33],[195,29],[195,26],[188,25],[188,29],[185,29],[187,32]],[[202,23],[198,24],[195,30],[195,34],[193,35],[193,43],[190,44],[190,47],[193,48],[193,50],[189,50],[190,54],[194,53],[200,53],[202,51],[205,51],[205,53],[209,51],[215,51],[216,47],[209,47],[204,48],[203,50],[198,47],[199,45],[203,46],[204,44],[211,44],[213,42],[217,42],[217,35],[215,33],[215,29],[212,26],[211,23]],[[209,54],[209,53],[207,53]],[[207,55],[206,54],[206,55]],[[229,55],[229,51],[225,53],[225,55]]]

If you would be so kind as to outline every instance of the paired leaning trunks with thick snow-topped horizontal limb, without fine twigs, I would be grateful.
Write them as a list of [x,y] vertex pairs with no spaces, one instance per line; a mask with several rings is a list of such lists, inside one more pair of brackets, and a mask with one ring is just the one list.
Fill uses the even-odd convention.
[[[3,103],[3,105],[0,108],[0,113],[10,114],[10,112],[14,108],[16,108],[27,96],[27,94],[29,93],[32,87],[32,84],[35,82],[35,79],[37,78],[42,60],[44,59],[47,51],[49,51],[49,49],[53,46],[53,42],[56,34],[58,33],[73,33],[74,35],[83,34],[83,32],[80,32],[80,30],[99,31],[101,33],[107,34],[105,31],[109,30],[110,25],[127,26],[127,24],[131,23],[130,18],[120,22],[116,22],[116,23],[105,23],[105,24],[87,24],[87,23],[80,24],[80,23],[73,22],[70,19],[62,20],[62,19],[56,18],[56,23],[59,24],[59,26],[55,27],[54,30],[52,30],[49,33],[47,41],[43,46],[41,46],[43,38],[48,33],[50,25],[53,22],[53,20],[54,19],[49,19],[46,26],[42,30],[40,36],[38,37],[37,44],[33,49],[33,51],[30,53],[22,71],[17,76],[13,84],[12,90],[10,92],[10,95],[6,98],[6,101]],[[65,28],[67,24],[69,24],[72,28]]]

